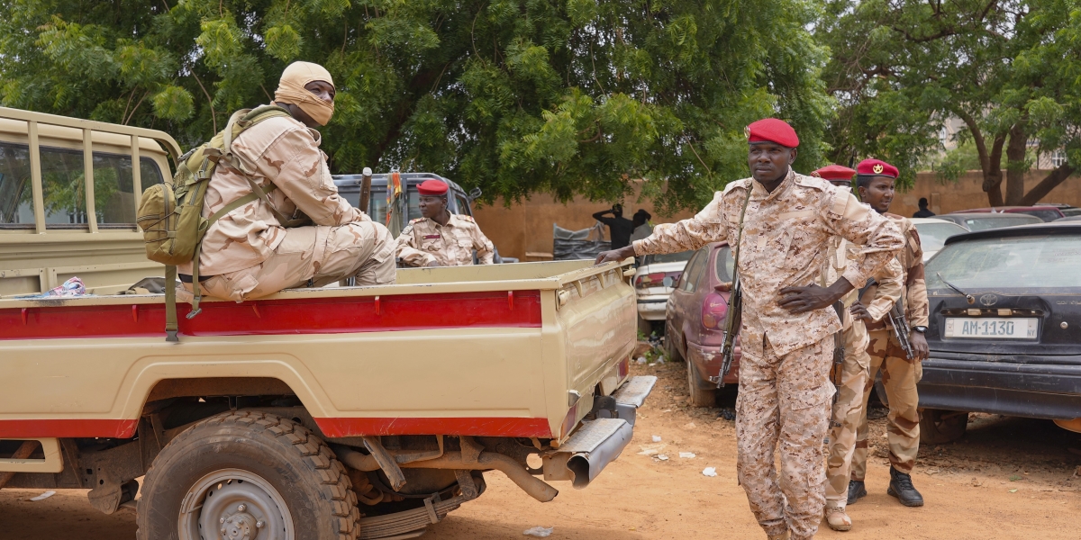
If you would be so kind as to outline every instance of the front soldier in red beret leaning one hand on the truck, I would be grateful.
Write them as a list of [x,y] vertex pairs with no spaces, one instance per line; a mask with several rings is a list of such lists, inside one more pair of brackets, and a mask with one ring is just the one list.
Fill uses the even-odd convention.
[[[751,511],[770,539],[813,538],[825,507],[823,440],[833,395],[830,306],[864,283],[903,247],[897,228],[852,193],[791,170],[799,138],[787,123],[747,127],[751,178],[728,185],[690,219],[658,225],[653,234],[598,262],[636,255],[736,246],[743,287],[736,471]],[[864,245],[864,256],[829,287],[815,285],[829,239]],[[780,451],[779,478],[774,454]]]

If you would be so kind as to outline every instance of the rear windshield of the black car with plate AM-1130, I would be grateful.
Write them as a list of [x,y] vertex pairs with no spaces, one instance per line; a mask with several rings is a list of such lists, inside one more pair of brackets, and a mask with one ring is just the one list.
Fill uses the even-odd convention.
[[1081,235],[1032,234],[947,245],[927,262],[925,274],[927,291],[949,289],[946,280],[967,294],[1031,292],[1081,286],[1078,268]]

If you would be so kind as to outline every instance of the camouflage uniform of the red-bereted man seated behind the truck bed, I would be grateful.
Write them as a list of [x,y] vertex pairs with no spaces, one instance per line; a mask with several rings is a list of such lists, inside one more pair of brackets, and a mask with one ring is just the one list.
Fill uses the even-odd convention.
[[411,267],[426,267],[433,260],[444,267],[472,265],[473,249],[481,265],[493,262],[492,241],[473,218],[464,214],[451,214],[446,225],[421,217],[410,221],[398,235],[398,258]]

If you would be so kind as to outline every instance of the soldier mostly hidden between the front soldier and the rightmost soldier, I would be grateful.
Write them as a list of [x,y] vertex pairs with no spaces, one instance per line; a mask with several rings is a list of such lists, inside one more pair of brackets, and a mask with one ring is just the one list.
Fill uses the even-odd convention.
[[[852,176],[855,174],[855,171],[841,165],[829,165],[811,173],[812,176],[829,180],[838,189],[848,191],[851,191]],[[860,246],[841,237],[831,238],[818,283],[824,286],[832,283],[837,276],[844,274],[850,262],[862,256]],[[879,293],[866,309],[872,320],[879,321],[889,313],[893,302],[900,297],[903,279],[904,272],[896,259],[891,259],[875,276],[880,284]],[[853,289],[835,305],[835,310],[841,318],[842,330],[835,345],[833,369],[830,373],[837,387],[837,395],[829,422],[829,454],[826,458],[826,524],[833,530],[852,529],[852,519],[844,508],[849,498],[849,474],[856,445],[856,430],[864,411],[864,389],[870,380],[867,328],[863,319],[856,319],[848,312],[858,300],[857,296],[857,291]],[[843,355],[840,364],[839,354]]]

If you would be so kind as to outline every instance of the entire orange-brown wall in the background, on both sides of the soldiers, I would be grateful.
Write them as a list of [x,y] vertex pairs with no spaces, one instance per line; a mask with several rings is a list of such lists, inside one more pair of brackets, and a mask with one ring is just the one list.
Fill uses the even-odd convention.
[[[1047,171],[1029,173],[1025,178],[1026,188],[1030,189],[1036,186],[1046,174]],[[1043,200],[1081,206],[1081,181],[1078,180],[1077,176],[1070,177],[1053,189]],[[931,201],[931,211],[935,214],[985,207],[987,206],[987,193],[980,189],[983,183],[983,175],[978,171],[969,172],[962,175],[957,183],[948,184],[937,180],[934,173],[920,173],[916,186],[911,190],[897,193],[890,212],[906,217],[911,216],[919,210],[918,202],[921,197],[926,197]],[[636,190],[636,193],[624,202],[624,217],[630,219],[640,207],[644,207],[646,212],[653,214],[654,224],[673,222],[695,214],[695,212],[686,211],[662,218],[654,212],[652,203],[633,204],[637,199]],[[501,255],[518,257],[524,261],[546,260],[543,255],[526,256],[526,253],[551,254],[552,224],[558,224],[564,229],[585,229],[595,224],[591,217],[593,212],[605,210],[609,206],[606,203],[590,202],[584,199],[575,199],[563,204],[556,202],[551,195],[537,193],[521,204],[506,207],[503,205],[503,201],[496,201],[495,204],[473,208],[473,213],[484,234],[488,234],[492,242],[498,246]]]

